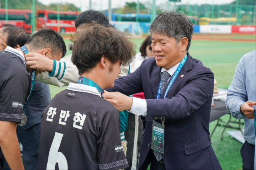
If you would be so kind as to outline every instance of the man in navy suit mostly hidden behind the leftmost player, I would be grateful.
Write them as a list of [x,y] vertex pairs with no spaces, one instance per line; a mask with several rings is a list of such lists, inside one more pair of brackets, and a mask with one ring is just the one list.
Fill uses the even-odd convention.
[[[20,48],[29,38],[29,33],[22,27],[4,27],[2,36],[3,48],[5,49],[7,46],[14,49]],[[23,146],[22,158],[25,169],[36,169],[40,140],[40,125],[42,120],[41,115],[50,101],[49,85],[36,80],[30,100],[25,108],[28,121],[24,126],[17,126],[17,137]],[[3,169],[10,169],[6,161],[4,162]]]

